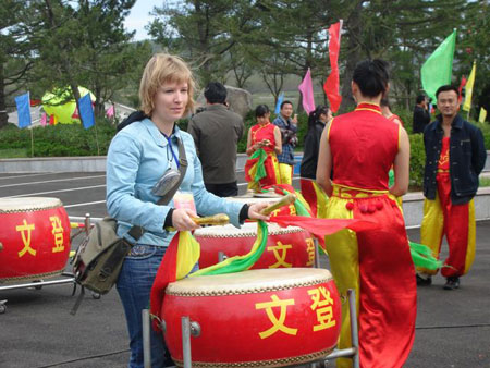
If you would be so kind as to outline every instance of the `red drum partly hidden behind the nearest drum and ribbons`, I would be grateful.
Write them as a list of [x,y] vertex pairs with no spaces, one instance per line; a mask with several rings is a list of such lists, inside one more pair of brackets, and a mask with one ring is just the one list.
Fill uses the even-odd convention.
[[[280,228],[269,223],[267,246],[253,269],[313,267],[315,243],[311,235],[296,226]],[[233,225],[209,226],[195,231],[200,244],[199,267],[218,263],[218,254],[243,256],[250,252],[257,237],[257,222],[247,222],[241,229]]]

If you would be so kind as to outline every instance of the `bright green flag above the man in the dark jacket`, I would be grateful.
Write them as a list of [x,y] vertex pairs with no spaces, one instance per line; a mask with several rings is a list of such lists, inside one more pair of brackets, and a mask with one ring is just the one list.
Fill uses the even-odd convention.
[[451,84],[453,56],[456,46],[456,29],[439,45],[420,70],[422,87],[436,101],[436,91],[440,86]]

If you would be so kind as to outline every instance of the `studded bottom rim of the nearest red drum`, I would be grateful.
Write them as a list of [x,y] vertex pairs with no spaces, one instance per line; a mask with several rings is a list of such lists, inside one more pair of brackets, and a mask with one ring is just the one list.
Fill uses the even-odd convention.
[[[304,355],[297,355],[289,358],[279,358],[279,359],[269,359],[269,360],[250,360],[250,361],[238,361],[238,363],[219,363],[219,361],[212,361],[212,363],[206,363],[206,361],[195,361],[193,360],[193,367],[197,368],[211,368],[211,367],[221,367],[221,368],[232,368],[232,367],[282,367],[282,366],[291,366],[296,365],[299,363],[308,363],[317,360],[321,357],[326,357],[330,355],[333,349],[336,347],[336,344],[333,347],[329,347],[319,352],[304,354]],[[173,361],[179,367],[183,366],[183,360],[175,359],[172,357]],[[279,366],[278,366],[279,365]]]

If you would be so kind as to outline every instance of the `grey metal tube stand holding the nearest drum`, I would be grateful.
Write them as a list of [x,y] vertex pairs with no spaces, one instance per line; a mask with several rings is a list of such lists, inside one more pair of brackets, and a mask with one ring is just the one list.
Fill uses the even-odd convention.
[[[220,261],[222,261],[223,253],[219,255]],[[315,240],[315,268],[320,267],[320,257],[318,252],[318,241]],[[356,311],[356,292],[354,289],[347,291],[348,299],[348,312],[351,315],[351,341],[352,347],[338,349],[335,348],[331,354],[326,357],[309,363],[308,365],[294,365],[289,367],[306,367],[310,368],[324,367],[324,365],[332,359],[336,358],[352,358],[353,367],[359,368],[359,339],[357,335],[357,311]],[[150,343],[150,314],[148,309],[143,309],[143,359],[144,367],[151,368],[151,343]],[[197,322],[191,321],[188,316],[181,318],[182,323],[182,356],[183,367],[192,368],[192,354],[191,354],[191,336],[197,338],[200,334],[200,327]]]

